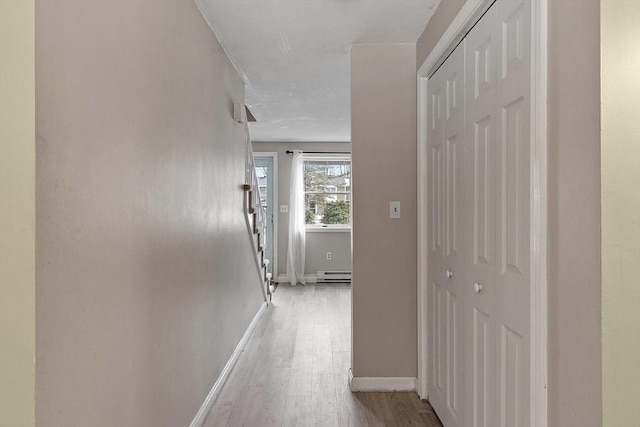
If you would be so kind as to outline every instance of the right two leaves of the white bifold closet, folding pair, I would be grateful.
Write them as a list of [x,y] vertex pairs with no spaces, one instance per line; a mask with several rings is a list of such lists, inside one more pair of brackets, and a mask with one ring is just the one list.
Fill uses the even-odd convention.
[[466,425],[529,423],[530,2],[498,0],[466,37]]

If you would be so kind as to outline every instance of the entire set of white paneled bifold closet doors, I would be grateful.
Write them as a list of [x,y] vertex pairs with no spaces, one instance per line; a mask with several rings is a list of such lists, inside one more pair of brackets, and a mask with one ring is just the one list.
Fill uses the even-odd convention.
[[530,6],[498,0],[428,82],[428,386],[445,427],[528,424]]

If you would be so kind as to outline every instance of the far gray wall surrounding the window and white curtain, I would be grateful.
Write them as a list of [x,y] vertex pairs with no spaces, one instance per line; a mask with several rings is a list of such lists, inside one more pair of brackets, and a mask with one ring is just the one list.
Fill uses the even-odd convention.
[[[291,155],[287,150],[306,151],[351,151],[349,142],[254,142],[253,151],[278,153],[278,201],[275,215],[278,218],[278,271],[280,276],[287,272],[287,242],[289,214],[280,213],[280,205],[289,205],[289,184],[291,181]],[[327,252],[332,259],[327,260]],[[318,270],[351,271],[350,232],[308,232],[305,254],[305,274],[316,274]]]

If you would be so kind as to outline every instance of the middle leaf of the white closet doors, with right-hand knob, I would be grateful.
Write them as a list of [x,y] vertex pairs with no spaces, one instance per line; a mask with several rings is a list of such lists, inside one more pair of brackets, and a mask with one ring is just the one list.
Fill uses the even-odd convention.
[[[496,10],[492,6],[466,38],[465,420],[496,427],[495,275],[498,167]],[[477,285],[476,285],[477,284]]]

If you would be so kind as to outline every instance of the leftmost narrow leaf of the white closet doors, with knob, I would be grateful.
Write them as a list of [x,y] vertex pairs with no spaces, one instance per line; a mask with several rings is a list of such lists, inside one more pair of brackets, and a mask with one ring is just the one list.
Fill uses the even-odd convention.
[[447,427],[462,426],[464,46],[429,79],[428,125],[430,371],[429,400]]

